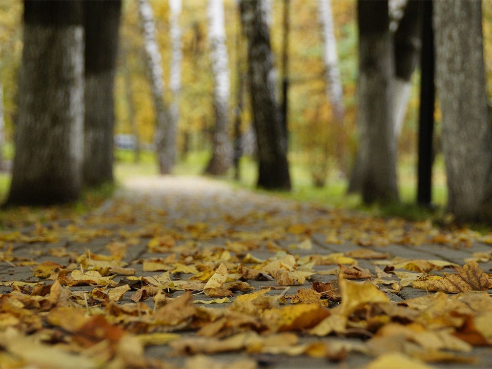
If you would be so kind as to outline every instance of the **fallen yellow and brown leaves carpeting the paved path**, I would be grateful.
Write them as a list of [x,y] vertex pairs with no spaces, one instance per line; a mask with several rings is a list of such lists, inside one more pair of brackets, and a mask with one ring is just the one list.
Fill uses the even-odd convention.
[[[0,367],[257,367],[354,352],[374,357],[367,367],[428,367],[492,345],[479,264],[492,253],[458,264],[388,247],[492,236],[207,186],[127,193],[65,227],[0,234]],[[212,365],[219,353],[241,356]]]

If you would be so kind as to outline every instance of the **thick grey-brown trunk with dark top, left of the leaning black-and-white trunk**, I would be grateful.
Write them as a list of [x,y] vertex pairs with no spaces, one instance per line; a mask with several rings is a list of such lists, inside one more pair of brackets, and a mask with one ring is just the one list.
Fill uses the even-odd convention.
[[387,1],[358,2],[360,187],[365,203],[398,200]]

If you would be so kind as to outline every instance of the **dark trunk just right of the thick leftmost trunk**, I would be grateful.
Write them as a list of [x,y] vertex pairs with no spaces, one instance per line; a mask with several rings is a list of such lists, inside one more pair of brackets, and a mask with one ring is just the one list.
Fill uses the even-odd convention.
[[84,1],[85,123],[83,181],[113,182],[114,76],[121,1]]

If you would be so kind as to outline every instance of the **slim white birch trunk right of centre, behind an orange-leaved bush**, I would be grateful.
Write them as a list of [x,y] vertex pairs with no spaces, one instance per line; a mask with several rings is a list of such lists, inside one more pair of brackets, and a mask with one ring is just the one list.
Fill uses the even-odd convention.
[[323,60],[326,69],[326,97],[331,101],[333,113],[338,124],[343,121],[345,108],[343,88],[338,68],[337,42],[333,24],[331,0],[319,0],[319,21],[321,23],[324,50]]

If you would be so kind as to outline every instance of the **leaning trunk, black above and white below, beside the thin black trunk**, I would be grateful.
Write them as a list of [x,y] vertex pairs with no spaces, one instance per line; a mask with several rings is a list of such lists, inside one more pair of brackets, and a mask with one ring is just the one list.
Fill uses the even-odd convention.
[[393,78],[393,121],[395,139],[400,137],[408,100],[412,90],[412,75],[421,49],[422,1],[407,3],[395,32],[395,77]]

